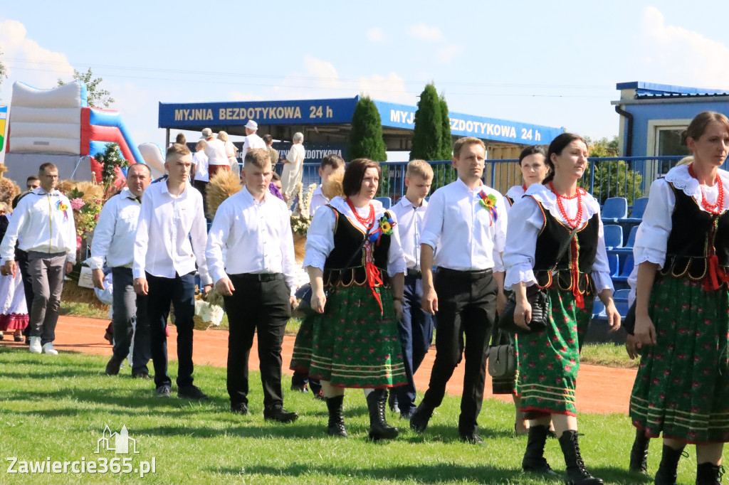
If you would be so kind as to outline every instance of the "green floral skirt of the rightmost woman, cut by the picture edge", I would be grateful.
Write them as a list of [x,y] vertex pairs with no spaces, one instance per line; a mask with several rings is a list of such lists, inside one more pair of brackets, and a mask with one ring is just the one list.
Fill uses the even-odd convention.
[[729,441],[729,293],[663,277],[650,293],[654,347],[644,347],[631,394],[633,424],[685,443]]

